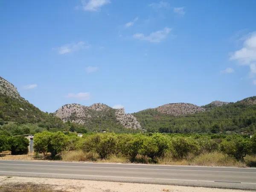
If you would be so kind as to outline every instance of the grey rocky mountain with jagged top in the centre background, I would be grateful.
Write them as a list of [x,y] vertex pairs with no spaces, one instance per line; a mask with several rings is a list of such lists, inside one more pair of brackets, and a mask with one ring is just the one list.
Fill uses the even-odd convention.
[[131,114],[125,114],[124,109],[113,109],[102,103],[95,103],[89,107],[80,104],[63,105],[54,116],[64,122],[76,122],[85,125],[93,131],[106,129],[140,129],[140,123]]

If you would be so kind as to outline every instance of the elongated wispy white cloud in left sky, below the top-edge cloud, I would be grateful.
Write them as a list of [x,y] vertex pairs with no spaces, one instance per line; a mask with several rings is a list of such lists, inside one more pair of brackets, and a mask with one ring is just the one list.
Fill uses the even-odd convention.
[[72,43],[72,44],[65,44],[61,47],[54,48],[54,50],[57,50],[58,54],[64,55],[70,52],[76,52],[81,49],[87,49],[90,46],[85,44],[83,41],[79,41],[78,43]]

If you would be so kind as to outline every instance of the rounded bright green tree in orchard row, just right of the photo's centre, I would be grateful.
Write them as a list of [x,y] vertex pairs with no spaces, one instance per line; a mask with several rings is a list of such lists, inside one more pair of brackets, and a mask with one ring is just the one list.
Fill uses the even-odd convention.
[[156,158],[162,157],[167,148],[168,142],[166,136],[157,133],[145,138],[140,149],[140,154],[150,157],[156,163]]

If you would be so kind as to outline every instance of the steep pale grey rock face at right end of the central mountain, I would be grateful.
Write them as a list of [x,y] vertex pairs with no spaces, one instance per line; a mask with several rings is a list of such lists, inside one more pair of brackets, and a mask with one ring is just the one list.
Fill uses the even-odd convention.
[[136,117],[131,114],[125,114],[125,109],[116,109],[116,120],[125,128],[141,129],[140,123]]

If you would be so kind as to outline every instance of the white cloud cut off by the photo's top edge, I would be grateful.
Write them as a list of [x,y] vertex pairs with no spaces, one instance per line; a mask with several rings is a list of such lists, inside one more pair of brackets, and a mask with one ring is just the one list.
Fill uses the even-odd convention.
[[81,0],[82,9],[84,11],[96,12],[100,8],[108,3],[111,3],[110,0]]

